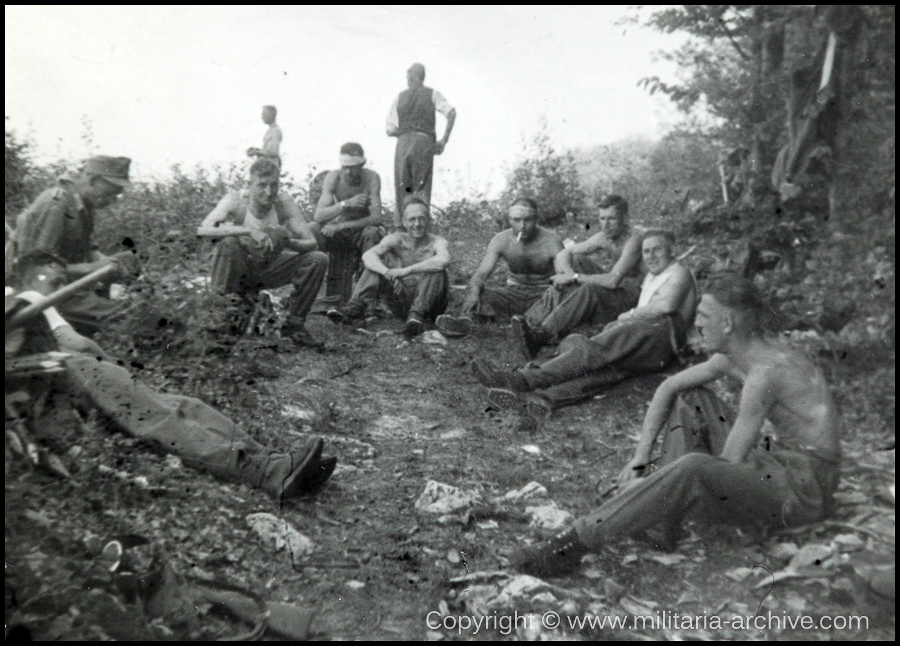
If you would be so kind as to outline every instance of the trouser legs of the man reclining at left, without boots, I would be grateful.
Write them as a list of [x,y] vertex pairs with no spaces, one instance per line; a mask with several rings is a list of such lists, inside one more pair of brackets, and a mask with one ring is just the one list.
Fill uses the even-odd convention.
[[199,399],[157,393],[124,368],[95,357],[74,355],[65,363],[76,390],[125,432],[156,442],[192,467],[240,480],[243,463],[263,452],[238,425]]

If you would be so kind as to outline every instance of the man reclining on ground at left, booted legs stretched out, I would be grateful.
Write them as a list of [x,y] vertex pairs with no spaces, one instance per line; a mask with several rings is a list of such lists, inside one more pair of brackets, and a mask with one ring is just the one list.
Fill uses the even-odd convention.
[[[291,452],[273,453],[199,399],[147,387],[76,333],[52,305],[101,279],[103,272],[101,268],[62,287],[66,267],[59,258],[38,251],[19,259],[18,289],[6,290],[7,384],[37,374],[49,380],[45,386],[75,395],[129,435],[179,456],[189,466],[258,487],[282,502],[325,483],[337,460],[322,457],[320,438],[309,438]],[[50,351],[57,352],[33,355]],[[7,421],[12,415],[17,425],[24,424],[9,398],[6,407]]]

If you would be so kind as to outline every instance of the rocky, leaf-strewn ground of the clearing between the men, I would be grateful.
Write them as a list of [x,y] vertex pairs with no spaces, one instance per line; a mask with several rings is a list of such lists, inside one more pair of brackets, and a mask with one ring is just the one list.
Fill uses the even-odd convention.
[[[478,249],[489,234],[473,233]],[[459,275],[474,268],[478,254],[469,255]],[[505,550],[547,533],[523,521],[532,503],[504,503],[506,513],[499,517],[438,517],[416,511],[417,498],[429,480],[478,492],[484,499],[537,481],[549,500],[577,517],[597,505],[595,485],[600,482],[603,489],[630,457],[662,376],[627,381],[546,422],[527,424],[515,414],[492,410],[471,376],[475,356],[490,353],[500,361],[516,361],[505,328],[484,327],[471,338],[439,345],[406,343],[393,334],[397,325],[383,321],[357,331],[311,317],[313,333],[327,340],[322,352],[251,338],[225,355],[187,358],[174,351],[145,354],[139,345],[111,340],[120,356],[128,347],[138,348],[132,365],[154,386],[202,396],[275,448],[310,433],[320,435],[326,454],[337,455],[340,466],[318,495],[280,508],[258,490],[223,484],[112,433],[90,414],[48,406],[40,434],[73,477],[30,471],[7,451],[7,631],[18,627],[45,639],[166,639],[247,630],[212,613],[190,611],[185,618],[170,608],[151,616],[146,603],[112,583],[96,554],[97,545],[125,537],[126,543],[147,544],[127,550],[122,569],[142,575],[169,564],[186,580],[226,581],[267,601],[313,607],[312,636],[321,639],[459,636],[451,629],[430,630],[426,617],[432,611],[496,618],[515,612],[625,616],[664,609],[726,617],[769,611],[816,618],[866,615],[869,628],[801,632],[669,625],[549,631],[520,626],[507,635],[510,631],[496,623],[463,636],[893,635],[893,604],[873,596],[860,576],[879,563],[893,565],[894,559],[894,506],[887,494],[894,454],[883,450],[893,447],[892,422],[887,422],[893,419],[892,351],[889,356],[822,358],[849,422],[849,459],[836,515],[840,526],[779,535],[692,526],[674,558],[626,541],[589,558],[577,575],[540,583],[497,573],[505,568]],[[286,549],[275,551],[261,541],[245,521],[261,511],[283,517],[310,538],[316,545],[312,555],[292,559]],[[790,544],[824,551],[818,564],[794,572],[771,591],[766,584],[756,589],[768,576],[756,572],[785,569]],[[751,574],[736,570],[754,566],[761,567]],[[431,615],[432,625],[441,621],[437,617]]]

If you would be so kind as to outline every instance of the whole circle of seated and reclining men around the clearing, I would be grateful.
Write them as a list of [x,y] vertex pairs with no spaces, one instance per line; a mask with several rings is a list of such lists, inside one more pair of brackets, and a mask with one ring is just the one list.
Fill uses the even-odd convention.
[[[497,406],[545,416],[630,374],[659,371],[679,357],[692,325],[708,352],[706,361],[657,389],[617,495],[570,530],[512,553],[514,567],[560,574],[620,536],[656,526],[671,541],[688,516],[785,527],[828,515],[840,459],[838,414],[820,369],[767,332],[766,306],[751,282],[715,276],[701,296],[675,257],[673,236],[632,230],[622,197],[604,199],[597,233],[569,247],[538,224],[539,206],[521,197],[509,207],[510,228],[491,239],[451,315],[450,245],[431,232],[428,201],[411,195],[402,222],[395,222],[402,226],[383,235],[377,174],[363,168],[358,144],[345,144],[340,159],[341,169],[325,180],[314,222],[279,192],[278,163],[262,157],[250,168],[249,188],[226,195],[198,229],[219,238],[212,289],[252,298],[264,288],[294,286],[282,336],[298,345],[320,345],[305,319],[328,268],[322,250],[350,245],[361,251],[363,270],[349,301],[327,312],[335,322],[359,321],[379,298],[403,317],[409,337],[432,321],[448,337],[510,321],[527,363],[512,368],[479,358],[472,364]],[[133,274],[133,254],[104,256],[91,243],[94,211],[128,183],[126,158],[97,157],[39,196],[19,218],[13,298],[39,301],[110,263],[120,278]],[[508,278],[488,284],[500,260]],[[114,363],[98,361],[105,359],[102,350],[76,330],[96,330],[114,309],[113,301],[89,294],[46,312],[44,332],[53,334],[45,338],[69,353],[66,387],[74,381],[126,431],[281,499],[314,491],[331,475],[336,460],[322,457],[321,440],[289,454],[269,453],[199,400],[156,393]],[[599,331],[575,333],[580,326]],[[39,332],[33,330],[36,338]],[[743,383],[736,416],[704,387],[725,376]],[[777,435],[763,437],[765,420]]]

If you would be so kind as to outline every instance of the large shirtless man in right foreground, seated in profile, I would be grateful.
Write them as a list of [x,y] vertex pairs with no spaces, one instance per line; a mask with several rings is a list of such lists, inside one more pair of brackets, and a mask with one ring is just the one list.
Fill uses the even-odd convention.
[[[586,553],[657,525],[671,543],[689,516],[772,527],[828,516],[838,483],[839,415],[821,369],[768,336],[765,316],[752,283],[713,279],[696,323],[710,358],[657,389],[634,457],[619,475],[621,493],[568,531],[517,550],[514,567],[563,574]],[[703,387],[726,376],[743,383],[737,417]],[[763,436],[765,420],[777,436]],[[660,433],[660,468],[653,471]]]

